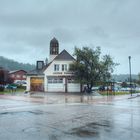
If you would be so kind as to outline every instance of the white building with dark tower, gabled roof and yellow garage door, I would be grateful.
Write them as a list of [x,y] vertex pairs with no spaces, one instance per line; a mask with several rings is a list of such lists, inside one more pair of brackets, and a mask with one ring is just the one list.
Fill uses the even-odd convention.
[[49,63],[37,61],[35,70],[27,73],[27,91],[80,92],[80,84],[75,83],[69,65],[75,59],[66,51],[59,53],[56,38],[50,41]]

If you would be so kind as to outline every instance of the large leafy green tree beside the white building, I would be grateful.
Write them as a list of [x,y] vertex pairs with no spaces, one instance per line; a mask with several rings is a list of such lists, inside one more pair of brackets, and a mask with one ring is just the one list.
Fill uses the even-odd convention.
[[117,65],[110,55],[105,55],[101,59],[100,47],[75,47],[74,56],[76,61],[70,65],[70,70],[75,72],[76,81],[87,85],[89,92],[97,82],[109,80]]

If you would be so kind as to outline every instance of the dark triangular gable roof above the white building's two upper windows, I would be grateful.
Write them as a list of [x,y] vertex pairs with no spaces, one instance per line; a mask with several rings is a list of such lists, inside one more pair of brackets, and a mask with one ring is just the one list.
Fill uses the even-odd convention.
[[66,50],[58,54],[54,60],[75,60]]

